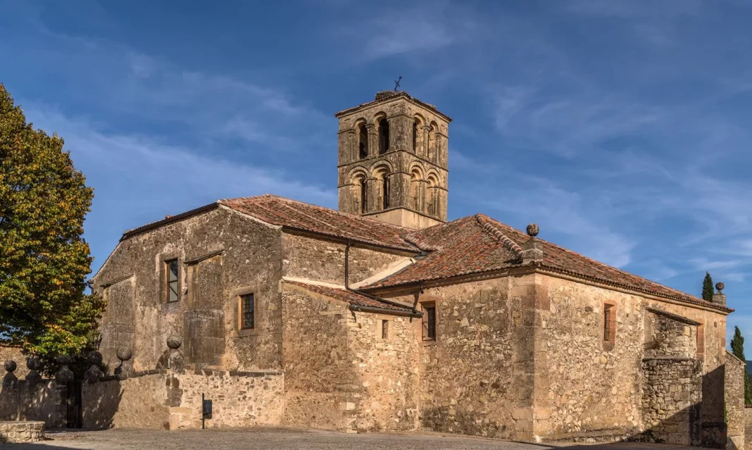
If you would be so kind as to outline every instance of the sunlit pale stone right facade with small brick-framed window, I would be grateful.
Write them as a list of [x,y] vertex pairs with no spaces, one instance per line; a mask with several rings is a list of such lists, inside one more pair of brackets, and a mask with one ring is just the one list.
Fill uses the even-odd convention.
[[[671,349],[669,353],[703,355],[702,423],[708,433],[717,431],[711,428],[723,423],[724,315],[561,278],[544,277],[541,281],[550,298],[550,308],[541,318],[549,349],[550,417],[541,422],[541,436],[621,439],[638,431],[642,424],[641,360],[644,345],[650,348],[653,340],[652,332],[646,336],[645,324],[660,316],[648,308],[700,324],[664,327],[662,336],[681,339],[654,346],[652,352],[664,348]],[[614,306],[616,314],[612,347],[604,345],[603,309],[607,303]],[[659,325],[648,327],[661,329]],[[697,336],[699,327],[702,340]],[[697,342],[702,343],[702,352],[696,348]]]

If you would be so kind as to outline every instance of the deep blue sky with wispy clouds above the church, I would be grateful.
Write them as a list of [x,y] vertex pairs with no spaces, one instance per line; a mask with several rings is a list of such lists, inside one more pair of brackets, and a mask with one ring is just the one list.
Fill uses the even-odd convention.
[[450,218],[485,212],[699,295],[752,335],[752,5],[8,2],[0,82],[123,230],[233,196],[336,207],[332,114],[402,87],[453,117]]

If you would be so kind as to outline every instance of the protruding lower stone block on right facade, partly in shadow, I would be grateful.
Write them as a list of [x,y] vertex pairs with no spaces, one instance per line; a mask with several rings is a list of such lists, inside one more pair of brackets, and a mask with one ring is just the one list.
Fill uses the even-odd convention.
[[702,369],[692,358],[642,360],[644,435],[656,442],[699,445]]

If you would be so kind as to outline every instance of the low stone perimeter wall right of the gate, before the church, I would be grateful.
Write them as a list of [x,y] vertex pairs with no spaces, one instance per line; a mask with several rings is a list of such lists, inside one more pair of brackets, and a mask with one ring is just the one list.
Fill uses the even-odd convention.
[[284,413],[280,372],[165,371],[85,382],[82,391],[87,428],[200,428],[202,394],[213,403],[206,427],[278,425]]

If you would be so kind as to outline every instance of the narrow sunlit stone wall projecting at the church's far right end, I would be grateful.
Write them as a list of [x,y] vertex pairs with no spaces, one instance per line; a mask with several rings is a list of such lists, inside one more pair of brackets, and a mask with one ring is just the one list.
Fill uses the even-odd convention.
[[[726,351],[726,426],[729,442],[734,442],[729,450],[743,450],[745,440],[744,418],[744,370],[746,363]],[[741,444],[740,444],[741,442]],[[726,445],[729,448],[729,445]]]

